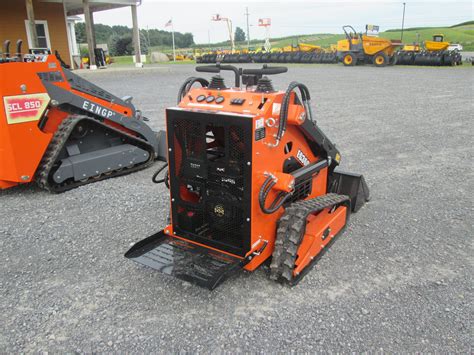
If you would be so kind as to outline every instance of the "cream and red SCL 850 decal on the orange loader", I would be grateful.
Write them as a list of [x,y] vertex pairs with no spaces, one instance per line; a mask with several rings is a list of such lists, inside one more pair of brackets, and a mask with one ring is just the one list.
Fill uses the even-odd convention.
[[5,114],[8,124],[38,121],[49,104],[48,94],[5,96]]

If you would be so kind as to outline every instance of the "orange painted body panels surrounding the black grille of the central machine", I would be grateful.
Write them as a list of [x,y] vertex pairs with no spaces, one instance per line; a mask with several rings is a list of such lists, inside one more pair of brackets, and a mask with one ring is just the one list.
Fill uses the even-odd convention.
[[[271,256],[274,249],[277,223],[281,215],[284,213],[284,208],[280,208],[272,214],[265,214],[262,212],[259,205],[258,195],[266,177],[269,173],[281,173],[282,162],[291,157],[296,157],[301,167],[320,160],[320,157],[313,154],[303,136],[303,133],[298,128],[298,125],[301,124],[302,121],[294,119],[294,117],[300,117],[300,115],[304,113],[304,109],[300,104],[290,104],[288,110],[287,130],[278,146],[274,146],[275,136],[278,131],[280,108],[284,94],[285,92],[283,91],[258,93],[246,91],[245,89],[214,90],[209,88],[196,88],[187,93],[178,105],[178,109],[183,111],[203,112],[208,114],[225,113],[226,115],[235,115],[236,119],[239,120],[251,120],[253,133],[261,127],[265,127],[266,129],[264,139],[252,139],[252,158],[251,162],[247,163],[251,164],[252,182],[250,202],[251,212],[250,217],[247,220],[247,223],[251,223],[250,246],[248,247],[246,255],[258,250],[263,243],[267,243],[267,247],[260,255],[257,255],[245,266],[245,269],[249,271],[255,270]],[[223,99],[217,100],[219,103],[216,103],[215,99],[212,100],[212,102],[206,102],[206,100],[202,100],[203,96],[213,96],[214,98],[222,97]],[[244,102],[239,105],[231,104],[235,99],[243,99]],[[290,101],[294,102],[294,100]],[[168,156],[168,161],[172,158],[173,157],[170,154]],[[175,172],[170,171],[169,173],[174,174]],[[315,198],[327,193],[327,175],[328,168],[326,167],[313,177],[312,189],[310,194],[307,196],[307,199]],[[276,198],[279,191],[279,189],[270,191],[268,200],[272,201]],[[173,201],[172,196],[171,200]],[[328,215],[327,212],[324,213],[326,222],[334,223],[333,220],[337,219],[338,225],[342,224],[343,226],[345,224],[345,212],[334,215]],[[337,228],[334,228],[335,231],[336,229]],[[172,225],[165,228],[165,233],[173,234]],[[175,237],[186,239],[176,234]],[[203,243],[198,243],[192,240],[188,241],[214,249]],[[321,244],[318,241],[315,241],[315,243],[318,245]],[[222,250],[219,251],[225,252]],[[312,249],[312,252],[315,253],[314,255],[319,251],[320,248],[317,251],[315,248]],[[234,256],[242,257],[241,255]]]

